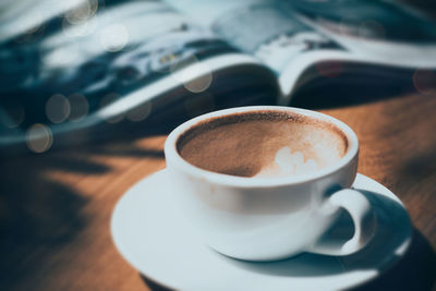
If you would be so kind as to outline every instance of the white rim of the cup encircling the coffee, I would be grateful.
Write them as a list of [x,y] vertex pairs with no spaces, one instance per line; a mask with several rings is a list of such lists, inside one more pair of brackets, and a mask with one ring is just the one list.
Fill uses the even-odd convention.
[[[186,131],[196,126],[203,120],[208,120],[218,117],[230,116],[233,113],[243,113],[249,111],[265,111],[265,110],[272,110],[272,111],[286,111],[286,112],[294,112],[298,114],[302,114],[304,117],[315,118],[323,122],[330,123],[338,128],[342,133],[344,133],[348,147],[347,153],[343,155],[340,160],[324,167],[323,169],[315,170],[311,173],[304,173],[299,175],[287,175],[287,177],[239,177],[239,175],[231,175],[225,173],[213,172],[209,170],[202,169],[196,167],[189,161],[186,161],[180,154],[177,148],[177,143],[179,137]],[[178,128],[175,128],[167,137],[165,142],[165,157],[167,161],[167,168],[169,163],[172,167],[177,167],[179,170],[182,170],[191,175],[197,177],[199,179],[204,179],[208,182],[215,184],[225,184],[225,185],[232,185],[232,186],[240,186],[240,187],[269,187],[269,186],[280,186],[280,185],[289,185],[289,184],[300,184],[306,183],[313,180],[317,180],[319,178],[329,175],[339,169],[347,166],[349,162],[353,160],[353,158],[359,154],[359,140],[356,134],[353,130],[350,129],[346,123],[342,121],[330,117],[325,113],[320,113],[313,110],[301,109],[295,107],[283,107],[283,106],[246,106],[246,107],[234,107],[223,110],[218,110],[214,112],[209,112],[206,114],[198,116],[193,118]]]

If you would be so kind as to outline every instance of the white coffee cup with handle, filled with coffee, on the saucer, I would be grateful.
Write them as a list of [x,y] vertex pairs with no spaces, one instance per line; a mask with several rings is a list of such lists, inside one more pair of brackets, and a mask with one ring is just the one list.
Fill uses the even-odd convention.
[[[276,131],[279,133],[272,133]],[[239,162],[244,163],[243,169],[252,163],[259,168],[257,157],[271,155],[267,150],[287,142],[290,153],[286,159],[301,156],[292,154],[295,146],[303,156],[314,153],[314,157],[303,157],[302,165],[308,165],[310,158],[326,165],[300,174],[274,170],[272,177],[240,177],[214,170],[215,163],[223,169]],[[189,143],[193,144],[191,148]],[[194,158],[182,157],[185,147]],[[257,148],[262,148],[259,153]],[[252,156],[247,159],[245,153]],[[341,154],[331,159],[336,153]],[[319,158],[323,155],[324,161]],[[165,156],[174,203],[191,218],[206,244],[227,256],[271,260],[303,252],[349,255],[363,248],[374,234],[372,205],[362,193],[350,189],[356,175],[358,137],[332,117],[274,106],[220,110],[173,130],[166,141]],[[202,159],[207,159],[205,165]],[[300,167],[295,165],[292,169]],[[351,216],[354,234],[339,242],[322,239],[335,227],[341,208]]]

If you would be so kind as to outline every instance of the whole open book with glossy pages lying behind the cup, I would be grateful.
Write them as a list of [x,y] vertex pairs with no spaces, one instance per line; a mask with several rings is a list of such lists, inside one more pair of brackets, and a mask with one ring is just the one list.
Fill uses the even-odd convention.
[[390,1],[4,0],[0,11],[3,153],[436,68],[435,23]]

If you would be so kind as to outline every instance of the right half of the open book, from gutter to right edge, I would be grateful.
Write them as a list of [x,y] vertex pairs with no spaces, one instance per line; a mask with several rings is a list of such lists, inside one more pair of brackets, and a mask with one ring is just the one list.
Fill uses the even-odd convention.
[[274,70],[283,105],[314,78],[344,73],[342,63],[354,73],[436,66],[434,22],[395,1],[167,1]]

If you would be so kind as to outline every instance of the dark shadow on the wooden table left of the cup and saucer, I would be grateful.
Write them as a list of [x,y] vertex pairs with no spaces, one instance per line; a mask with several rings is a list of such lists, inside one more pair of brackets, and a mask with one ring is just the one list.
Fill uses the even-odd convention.
[[0,161],[0,290],[11,290],[50,265],[61,247],[85,228],[88,198],[51,173],[100,175],[110,166],[89,157],[162,159],[158,148],[134,141],[87,145]]

